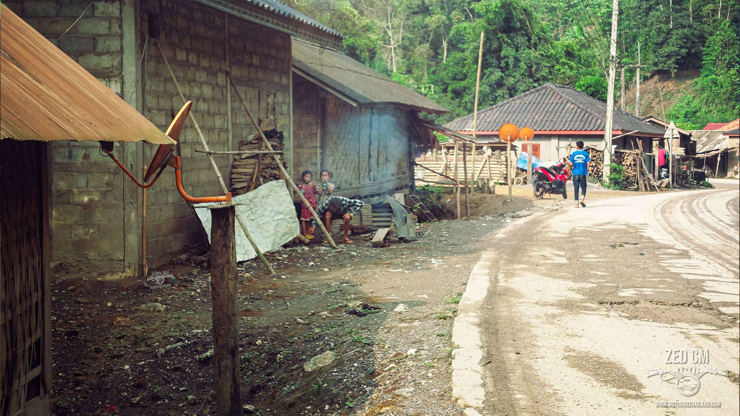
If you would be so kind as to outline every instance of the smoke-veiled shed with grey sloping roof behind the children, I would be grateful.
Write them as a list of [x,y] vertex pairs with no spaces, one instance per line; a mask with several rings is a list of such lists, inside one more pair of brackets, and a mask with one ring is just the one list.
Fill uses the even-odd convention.
[[292,56],[293,172],[331,171],[333,195],[376,204],[372,224],[384,195],[411,186],[414,149],[436,146],[419,114],[448,110],[337,50],[294,38]]

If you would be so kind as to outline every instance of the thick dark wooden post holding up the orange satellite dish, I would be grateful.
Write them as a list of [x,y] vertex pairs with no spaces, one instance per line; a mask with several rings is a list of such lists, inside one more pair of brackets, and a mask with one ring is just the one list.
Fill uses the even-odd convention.
[[243,415],[236,316],[236,240],[233,205],[211,211],[211,299],[213,302],[213,380],[216,414]]

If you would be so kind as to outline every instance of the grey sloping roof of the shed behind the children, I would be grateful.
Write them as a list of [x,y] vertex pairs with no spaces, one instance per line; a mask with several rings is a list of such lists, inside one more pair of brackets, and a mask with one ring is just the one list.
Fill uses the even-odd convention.
[[310,81],[334,89],[357,104],[397,104],[426,113],[447,113],[445,107],[404,87],[343,53],[293,39],[293,67]]

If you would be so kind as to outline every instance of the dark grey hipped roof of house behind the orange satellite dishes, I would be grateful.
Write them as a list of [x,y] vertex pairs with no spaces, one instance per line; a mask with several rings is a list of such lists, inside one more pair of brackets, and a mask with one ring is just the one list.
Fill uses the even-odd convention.
[[[603,131],[606,103],[555,84],[544,84],[526,93],[509,98],[478,112],[477,130],[497,131],[502,124],[514,123],[535,131],[589,130]],[[457,131],[473,130],[473,115],[457,118],[445,124]],[[665,129],[648,124],[633,115],[614,110],[613,130],[656,135],[662,137]]]

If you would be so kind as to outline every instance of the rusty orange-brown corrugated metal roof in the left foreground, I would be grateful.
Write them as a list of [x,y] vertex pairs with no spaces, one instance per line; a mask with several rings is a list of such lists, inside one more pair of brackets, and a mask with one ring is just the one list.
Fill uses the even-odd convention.
[[175,143],[10,9],[0,7],[2,138]]

